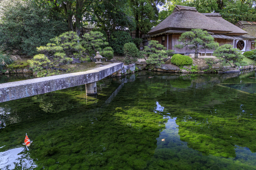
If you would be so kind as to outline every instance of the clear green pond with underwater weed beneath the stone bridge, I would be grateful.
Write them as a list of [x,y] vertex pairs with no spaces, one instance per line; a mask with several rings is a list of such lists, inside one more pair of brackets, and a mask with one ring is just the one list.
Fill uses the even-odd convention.
[[253,77],[143,71],[0,103],[0,169],[256,169]]

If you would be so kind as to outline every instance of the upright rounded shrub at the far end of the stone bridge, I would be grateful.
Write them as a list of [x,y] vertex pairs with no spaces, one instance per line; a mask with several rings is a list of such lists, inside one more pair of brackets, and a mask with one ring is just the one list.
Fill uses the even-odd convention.
[[140,57],[140,52],[134,43],[124,44],[125,63],[135,63]]

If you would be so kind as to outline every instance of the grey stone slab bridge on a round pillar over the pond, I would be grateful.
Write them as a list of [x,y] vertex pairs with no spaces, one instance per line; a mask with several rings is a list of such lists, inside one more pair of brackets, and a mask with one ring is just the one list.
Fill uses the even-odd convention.
[[86,94],[97,93],[96,81],[122,69],[123,63],[112,63],[96,69],[0,84],[0,102],[40,95],[86,84]]

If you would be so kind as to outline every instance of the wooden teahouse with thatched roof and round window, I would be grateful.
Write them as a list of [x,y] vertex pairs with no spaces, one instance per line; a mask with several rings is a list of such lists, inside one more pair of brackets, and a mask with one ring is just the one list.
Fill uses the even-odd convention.
[[[248,38],[247,32],[224,20],[219,13],[201,14],[196,8],[176,5],[170,16],[148,32],[143,40],[143,45],[148,45],[150,40],[157,40],[167,49],[175,53],[194,53],[187,46],[178,49],[174,45],[180,44],[178,39],[183,32],[191,29],[202,29],[208,31],[215,42],[220,45],[231,44],[241,51],[250,51],[252,41],[255,37]],[[206,53],[213,53],[214,49],[206,49]],[[204,53],[204,49],[199,50]]]

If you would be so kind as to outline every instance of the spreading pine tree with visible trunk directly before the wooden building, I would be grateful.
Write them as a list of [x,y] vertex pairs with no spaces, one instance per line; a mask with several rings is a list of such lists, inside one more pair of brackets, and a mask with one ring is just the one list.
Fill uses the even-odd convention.
[[182,33],[178,41],[182,42],[182,44],[175,45],[175,47],[183,48],[188,46],[189,49],[195,50],[195,58],[198,58],[199,48],[214,49],[219,46],[219,43],[214,42],[214,38],[207,31],[201,29],[192,29]]

